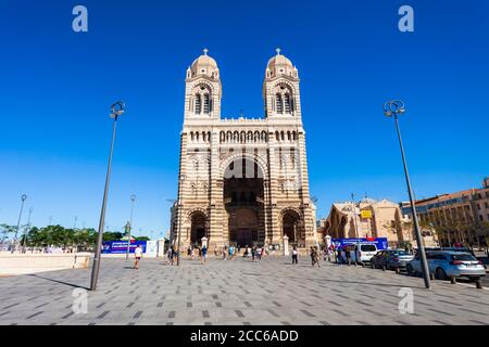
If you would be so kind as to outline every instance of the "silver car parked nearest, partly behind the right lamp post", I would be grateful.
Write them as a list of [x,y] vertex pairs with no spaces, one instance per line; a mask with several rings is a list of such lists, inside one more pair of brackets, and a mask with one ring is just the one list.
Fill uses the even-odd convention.
[[[482,262],[469,253],[452,250],[427,252],[426,258],[429,272],[434,273],[439,280],[448,280],[450,278],[478,280],[486,275],[486,268]],[[422,272],[418,256],[408,262],[406,271],[409,274]]]

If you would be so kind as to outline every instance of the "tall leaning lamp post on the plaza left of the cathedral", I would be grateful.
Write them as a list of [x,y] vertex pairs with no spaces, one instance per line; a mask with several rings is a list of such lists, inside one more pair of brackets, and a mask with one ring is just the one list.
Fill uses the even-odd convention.
[[114,125],[112,129],[112,141],[111,141],[111,152],[109,154],[109,165],[106,169],[105,177],[105,190],[103,192],[102,200],[102,210],[100,211],[100,221],[99,221],[99,234],[97,239],[96,253],[93,257],[93,266],[91,269],[91,281],[90,281],[90,291],[95,291],[97,288],[97,281],[99,279],[99,270],[100,270],[100,256],[102,253],[102,240],[103,240],[103,227],[105,223],[105,208],[106,208],[106,197],[109,194],[109,182],[111,179],[111,168],[112,168],[112,154],[114,152],[114,141],[115,141],[115,129],[117,125],[117,118],[124,113],[124,103],[122,101],[116,102],[111,106],[111,115],[110,117],[114,119]]

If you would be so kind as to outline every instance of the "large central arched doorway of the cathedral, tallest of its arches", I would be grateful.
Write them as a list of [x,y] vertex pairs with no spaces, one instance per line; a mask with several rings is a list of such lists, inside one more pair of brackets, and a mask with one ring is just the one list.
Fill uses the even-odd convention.
[[226,168],[223,198],[228,217],[229,245],[264,242],[264,179],[251,158],[238,156]]

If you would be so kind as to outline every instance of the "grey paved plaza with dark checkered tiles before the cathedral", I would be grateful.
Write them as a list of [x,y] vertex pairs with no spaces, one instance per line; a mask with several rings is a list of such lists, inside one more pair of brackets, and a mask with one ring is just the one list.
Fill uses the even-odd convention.
[[[87,313],[75,314],[73,291],[90,270],[0,278],[0,324],[489,324],[489,292],[308,258],[183,260],[103,258]],[[399,291],[414,293],[414,313],[399,311]]]

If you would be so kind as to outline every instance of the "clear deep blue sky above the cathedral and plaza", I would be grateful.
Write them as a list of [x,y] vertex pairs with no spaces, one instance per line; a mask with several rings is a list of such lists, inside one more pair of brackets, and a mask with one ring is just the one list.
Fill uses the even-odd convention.
[[[89,31],[72,30],[84,4]],[[411,4],[415,33],[398,30]],[[489,4],[472,1],[0,1],[0,223],[97,227],[112,123],[122,99],[106,223],[168,229],[177,190],[184,79],[203,48],[222,74],[223,117],[262,116],[276,47],[298,66],[318,217],[351,192],[406,200],[392,120],[417,197],[480,185],[489,175]],[[24,222],[27,214],[24,214]]]

